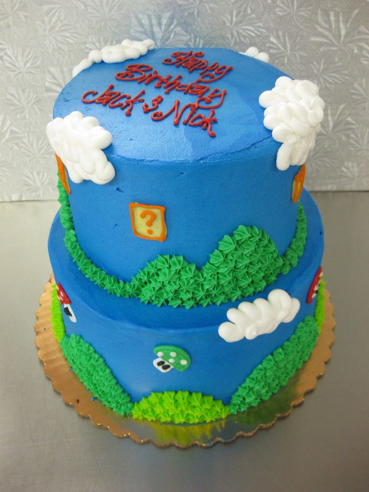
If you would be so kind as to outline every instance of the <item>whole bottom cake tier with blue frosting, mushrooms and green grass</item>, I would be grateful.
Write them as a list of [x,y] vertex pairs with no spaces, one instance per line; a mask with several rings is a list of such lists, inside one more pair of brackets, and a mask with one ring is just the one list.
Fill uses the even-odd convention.
[[108,294],[78,270],[57,215],[49,252],[56,283],[67,297],[60,309],[54,292],[54,333],[81,381],[120,414],[174,422],[222,418],[278,391],[308,358],[321,317],[319,295],[312,302],[307,296],[321,262],[323,229],[305,191],[301,204],[307,240],[297,266],[263,292],[242,299],[266,299],[282,289],[298,299],[299,310],[272,333],[233,343],[218,329],[240,300],[186,309]]

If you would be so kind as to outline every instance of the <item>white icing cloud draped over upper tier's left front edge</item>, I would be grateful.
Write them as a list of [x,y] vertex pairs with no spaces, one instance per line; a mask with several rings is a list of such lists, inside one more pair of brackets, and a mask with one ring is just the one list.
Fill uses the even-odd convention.
[[110,145],[112,136],[96,118],[84,118],[80,111],[73,111],[50,121],[46,133],[74,183],[91,180],[104,185],[114,178],[115,170],[102,151]]

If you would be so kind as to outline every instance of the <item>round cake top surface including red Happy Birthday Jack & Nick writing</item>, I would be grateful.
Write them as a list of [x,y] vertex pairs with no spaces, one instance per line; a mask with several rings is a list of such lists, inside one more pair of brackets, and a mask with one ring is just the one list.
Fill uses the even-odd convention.
[[217,160],[266,139],[277,150],[259,96],[283,75],[228,49],[155,48],[82,70],[59,94],[54,118],[72,111],[97,118],[112,136],[108,159]]

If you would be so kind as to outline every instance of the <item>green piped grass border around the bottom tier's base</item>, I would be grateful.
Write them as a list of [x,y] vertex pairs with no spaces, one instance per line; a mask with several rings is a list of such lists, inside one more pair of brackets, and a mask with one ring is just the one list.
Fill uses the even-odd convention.
[[[52,321],[60,320],[61,309],[55,295],[52,297],[52,312]],[[119,415],[174,423],[211,422],[225,418],[231,413],[243,412],[260,401],[267,400],[301,368],[315,346],[320,332],[318,323],[324,320],[324,285],[317,293],[314,316],[306,316],[297,325],[293,335],[252,371],[233,394],[230,405],[224,405],[221,400],[214,400],[212,396],[191,394],[188,391],[152,392],[139,402],[132,403],[130,396],[119,385],[104,359],[82,337],[74,334],[71,337],[65,335],[60,346],[80,381],[95,398]],[[63,319],[61,322],[63,323]],[[56,333],[60,336],[62,331],[54,331],[58,338]]]

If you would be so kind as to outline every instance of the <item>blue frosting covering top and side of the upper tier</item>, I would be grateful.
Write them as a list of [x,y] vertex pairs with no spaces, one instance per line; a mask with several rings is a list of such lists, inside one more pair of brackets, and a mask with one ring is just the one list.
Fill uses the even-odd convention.
[[[183,118],[175,126],[173,114],[153,121],[152,113],[143,112],[142,103],[134,104],[132,114],[126,116],[119,107],[81,100],[87,91],[101,94],[113,84],[113,90],[132,97],[145,90],[142,97],[149,106],[161,95],[163,113],[175,99],[181,105],[195,102],[196,95],[175,90],[164,94],[163,88],[154,86],[155,81],[144,85],[115,79],[127,65],[140,63],[152,66],[163,77],[181,75],[182,83],[193,82],[198,72],[162,63],[176,51],[189,50],[154,49],[138,60],[95,64],[73,78],[55,103],[54,117],[78,110],[96,117],[112,134],[112,143],[104,151],[115,177],[105,185],[69,180],[70,205],[82,249],[97,266],[123,280],[130,280],[160,254],[183,255],[201,268],[218,241],[241,224],[265,230],[280,254],[295,232],[297,204],[291,202],[291,189],[298,169],[276,168],[280,144],[264,127],[264,110],[258,102],[259,95],[284,75],[275,67],[227,49],[203,50],[209,64],[217,61],[233,67],[209,84],[210,90],[227,91],[223,104],[215,109],[215,137],[200,126],[182,124]],[[129,213],[133,202],[165,207],[165,241],[133,234]]]

